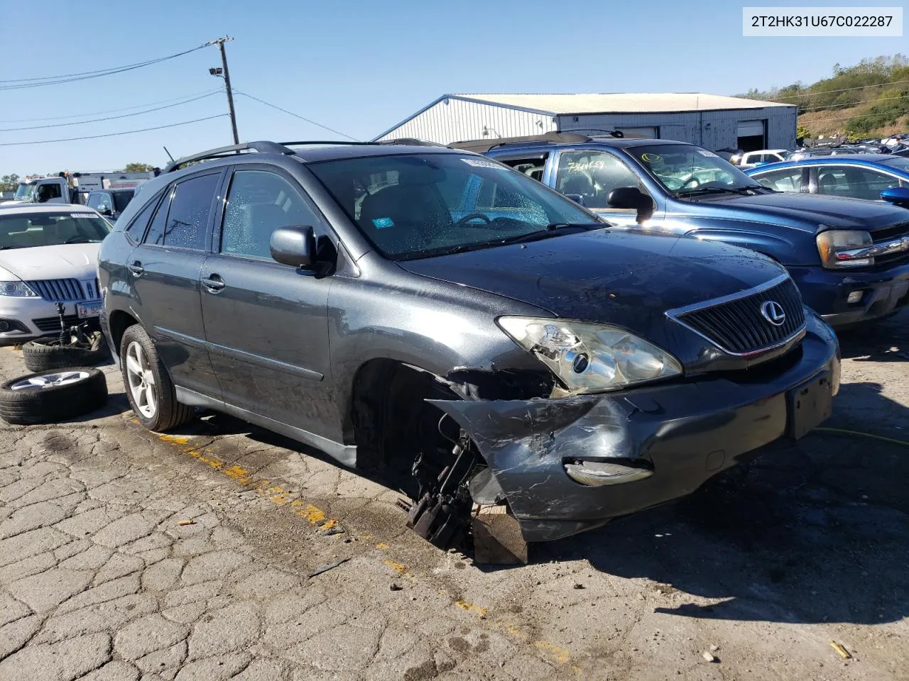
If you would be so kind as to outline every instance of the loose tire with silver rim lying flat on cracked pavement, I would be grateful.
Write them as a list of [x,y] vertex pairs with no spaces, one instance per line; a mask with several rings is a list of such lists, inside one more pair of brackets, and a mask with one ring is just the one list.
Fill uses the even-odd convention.
[[107,380],[100,369],[39,371],[0,385],[0,419],[15,425],[54,423],[99,409],[106,401]]

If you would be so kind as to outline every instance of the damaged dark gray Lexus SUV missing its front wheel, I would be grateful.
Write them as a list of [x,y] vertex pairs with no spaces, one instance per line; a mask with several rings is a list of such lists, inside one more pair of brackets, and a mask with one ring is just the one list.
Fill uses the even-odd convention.
[[415,141],[175,162],[116,222],[99,279],[146,428],[203,407],[387,469],[439,546],[474,504],[540,541],[683,496],[802,437],[839,385],[834,334],[770,259],[612,232]]

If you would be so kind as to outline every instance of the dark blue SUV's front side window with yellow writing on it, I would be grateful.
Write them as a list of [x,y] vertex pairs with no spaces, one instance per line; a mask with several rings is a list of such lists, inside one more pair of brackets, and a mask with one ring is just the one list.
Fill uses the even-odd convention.
[[564,194],[581,194],[588,208],[608,208],[609,192],[618,187],[644,187],[628,166],[604,152],[564,152],[559,157],[555,188]]

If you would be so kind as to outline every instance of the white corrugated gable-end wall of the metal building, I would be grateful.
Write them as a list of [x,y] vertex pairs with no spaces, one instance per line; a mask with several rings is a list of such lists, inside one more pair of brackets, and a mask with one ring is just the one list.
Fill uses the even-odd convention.
[[548,114],[532,114],[493,104],[445,99],[378,139],[416,137],[428,142],[450,144],[482,139],[484,127],[494,131],[486,135],[492,138],[551,133],[556,129],[553,116]]

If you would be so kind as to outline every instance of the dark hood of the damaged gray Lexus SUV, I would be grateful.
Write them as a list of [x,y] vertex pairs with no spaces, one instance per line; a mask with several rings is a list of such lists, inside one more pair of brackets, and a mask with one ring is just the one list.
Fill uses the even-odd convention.
[[664,336],[665,311],[750,289],[783,271],[734,246],[606,230],[398,264],[653,341]]

